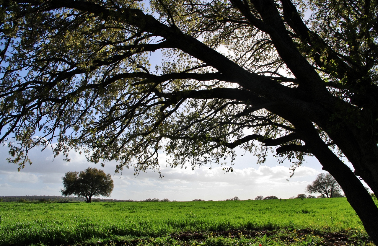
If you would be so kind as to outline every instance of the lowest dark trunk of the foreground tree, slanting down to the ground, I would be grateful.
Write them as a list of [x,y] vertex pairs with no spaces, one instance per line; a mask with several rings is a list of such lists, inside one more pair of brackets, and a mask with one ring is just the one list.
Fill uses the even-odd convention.
[[306,142],[307,144],[311,149],[311,153],[322,164],[323,170],[328,171],[344,190],[348,202],[361,219],[366,232],[373,242],[378,245],[378,208],[369,192],[367,192],[352,170],[328,149],[319,136],[312,138]]

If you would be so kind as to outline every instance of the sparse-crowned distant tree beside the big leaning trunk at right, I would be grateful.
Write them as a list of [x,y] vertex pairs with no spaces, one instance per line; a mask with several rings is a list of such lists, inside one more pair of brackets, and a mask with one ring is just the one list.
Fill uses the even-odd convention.
[[333,194],[337,193],[341,197],[341,187],[330,174],[319,173],[316,179],[306,187],[306,191],[310,194],[321,193],[327,198],[334,197]]

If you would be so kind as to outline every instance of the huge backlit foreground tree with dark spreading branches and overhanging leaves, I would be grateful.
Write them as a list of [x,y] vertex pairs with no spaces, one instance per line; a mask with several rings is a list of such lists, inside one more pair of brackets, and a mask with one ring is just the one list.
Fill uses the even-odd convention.
[[378,208],[360,181],[378,193],[377,2],[144,4],[1,1],[9,161],[22,168],[39,144],[135,172],[159,171],[159,150],[196,166],[233,160],[237,146],[264,161],[277,147],[293,170],[313,155],[378,244]]

